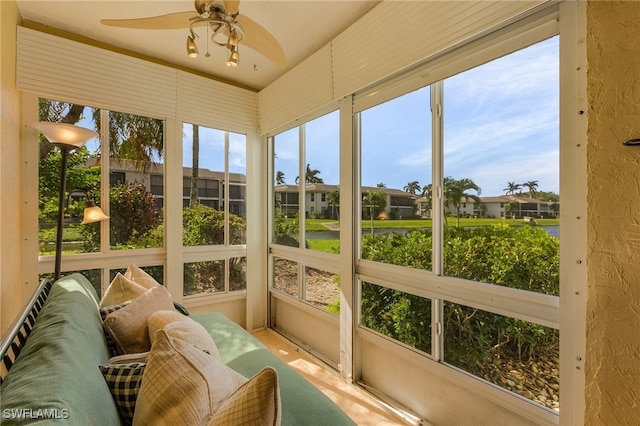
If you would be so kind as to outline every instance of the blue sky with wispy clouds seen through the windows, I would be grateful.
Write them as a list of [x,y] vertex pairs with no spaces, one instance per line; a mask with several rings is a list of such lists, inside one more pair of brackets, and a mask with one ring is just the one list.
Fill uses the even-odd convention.
[[[483,196],[504,194],[507,182],[531,180],[538,190],[559,193],[558,58],[554,37],[445,80],[445,176],[473,179]],[[304,164],[329,184],[339,182],[338,121],[336,111],[306,124]],[[429,87],[363,111],[361,121],[363,185],[403,189],[431,182]],[[191,132],[185,125],[185,166],[192,161]],[[231,172],[246,173],[244,140],[230,134]],[[200,127],[200,152],[200,167],[223,170],[224,132]],[[274,169],[293,184],[297,128],[276,136],[275,152]]]

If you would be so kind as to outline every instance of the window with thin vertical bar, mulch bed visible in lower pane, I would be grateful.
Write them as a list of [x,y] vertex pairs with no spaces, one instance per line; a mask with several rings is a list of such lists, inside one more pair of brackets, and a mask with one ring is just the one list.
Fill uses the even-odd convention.
[[[332,112],[270,138],[274,177],[273,244],[307,252],[339,252],[338,118],[338,112]],[[290,184],[291,180],[294,184]],[[329,191],[328,196],[323,191]],[[302,265],[286,256],[279,253],[272,257],[273,288],[337,314],[339,275]]]

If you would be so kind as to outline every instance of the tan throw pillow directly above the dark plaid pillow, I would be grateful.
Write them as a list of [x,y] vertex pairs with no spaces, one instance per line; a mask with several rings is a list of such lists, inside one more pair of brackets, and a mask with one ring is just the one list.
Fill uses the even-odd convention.
[[151,348],[147,320],[156,311],[171,309],[169,292],[163,286],[155,286],[107,315],[102,326],[113,339],[118,355],[147,352]]

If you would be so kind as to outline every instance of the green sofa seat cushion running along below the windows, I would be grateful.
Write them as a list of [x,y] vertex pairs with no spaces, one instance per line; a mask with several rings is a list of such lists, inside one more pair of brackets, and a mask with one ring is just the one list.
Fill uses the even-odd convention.
[[213,337],[222,362],[249,378],[271,366],[278,372],[282,426],[355,423],[325,394],[272,354],[250,333],[220,313],[194,314]]

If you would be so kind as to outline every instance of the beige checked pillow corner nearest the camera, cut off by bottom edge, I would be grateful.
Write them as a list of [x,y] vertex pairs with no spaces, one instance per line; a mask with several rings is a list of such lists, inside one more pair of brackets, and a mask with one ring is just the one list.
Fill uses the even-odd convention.
[[265,367],[227,398],[209,426],[278,426],[281,417],[278,373]]

